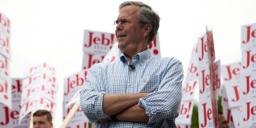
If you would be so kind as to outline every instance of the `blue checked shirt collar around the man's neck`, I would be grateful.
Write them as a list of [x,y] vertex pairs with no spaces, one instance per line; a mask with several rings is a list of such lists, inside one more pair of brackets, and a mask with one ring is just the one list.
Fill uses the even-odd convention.
[[[145,60],[147,60],[151,56],[149,49],[146,49],[145,51],[142,51],[141,53],[138,53],[136,55],[132,56],[132,61],[135,61],[137,63],[143,63]],[[126,63],[128,62],[128,59],[124,55],[124,53],[121,54],[120,57],[121,62]],[[136,61],[137,60],[137,61]]]

